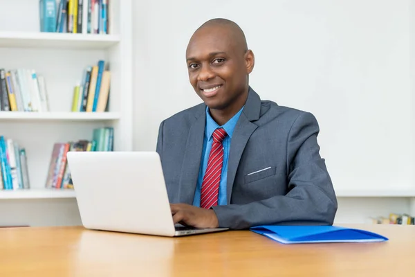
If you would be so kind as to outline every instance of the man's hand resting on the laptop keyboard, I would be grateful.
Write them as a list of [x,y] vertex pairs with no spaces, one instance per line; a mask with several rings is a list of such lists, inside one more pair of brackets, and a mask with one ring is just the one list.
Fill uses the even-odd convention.
[[194,226],[196,228],[217,228],[216,213],[212,209],[198,208],[188,204],[170,204],[174,224]]

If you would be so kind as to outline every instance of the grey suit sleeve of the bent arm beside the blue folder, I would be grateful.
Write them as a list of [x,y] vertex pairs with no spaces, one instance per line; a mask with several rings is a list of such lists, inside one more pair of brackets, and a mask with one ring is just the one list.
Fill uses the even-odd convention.
[[249,204],[213,207],[219,226],[247,229],[264,224],[333,224],[338,204],[320,157],[319,131],[312,114],[300,114],[286,144],[288,193]]

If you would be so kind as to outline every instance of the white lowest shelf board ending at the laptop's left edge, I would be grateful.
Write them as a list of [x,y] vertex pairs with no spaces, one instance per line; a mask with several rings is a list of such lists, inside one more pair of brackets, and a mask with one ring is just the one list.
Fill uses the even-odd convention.
[[29,190],[0,190],[0,199],[75,198],[75,190],[31,188]]

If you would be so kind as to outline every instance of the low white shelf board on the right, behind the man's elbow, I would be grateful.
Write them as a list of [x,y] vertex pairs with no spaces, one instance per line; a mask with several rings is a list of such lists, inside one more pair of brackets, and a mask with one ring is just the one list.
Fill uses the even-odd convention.
[[337,197],[415,197],[415,189],[396,188],[388,190],[347,189],[335,190]]

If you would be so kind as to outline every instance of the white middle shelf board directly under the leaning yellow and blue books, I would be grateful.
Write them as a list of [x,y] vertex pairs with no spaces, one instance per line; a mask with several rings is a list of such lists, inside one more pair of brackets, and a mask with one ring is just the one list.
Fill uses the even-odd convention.
[[118,120],[118,112],[23,112],[0,111],[0,120]]

